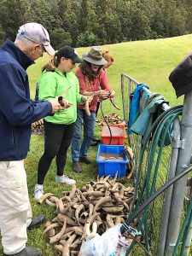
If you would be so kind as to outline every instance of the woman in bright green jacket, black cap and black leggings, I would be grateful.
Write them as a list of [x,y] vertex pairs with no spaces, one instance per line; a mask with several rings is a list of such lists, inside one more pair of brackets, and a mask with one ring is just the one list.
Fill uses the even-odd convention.
[[59,49],[51,63],[44,67],[39,80],[39,100],[49,101],[56,96],[63,96],[65,109],[44,119],[44,154],[38,163],[38,183],[34,196],[38,200],[43,194],[44,177],[52,160],[56,156],[56,183],[74,184],[75,180],[64,175],[67,149],[69,148],[77,119],[77,103],[84,104],[85,96],[79,94],[79,80],[72,73],[75,63],[80,59],[70,46]]

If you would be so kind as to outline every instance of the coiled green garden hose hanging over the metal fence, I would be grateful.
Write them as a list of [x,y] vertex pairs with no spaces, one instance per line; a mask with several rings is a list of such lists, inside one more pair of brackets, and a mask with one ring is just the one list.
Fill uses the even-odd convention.
[[[151,133],[154,131],[153,140],[152,140],[151,148],[150,148],[150,153],[151,154],[150,154],[150,157],[149,157],[149,160],[148,160],[147,175],[145,177],[145,182],[144,182],[144,185],[143,185],[142,192],[140,193],[141,196],[137,200],[137,205],[134,208],[132,208],[132,210],[131,210],[132,215],[134,215],[134,213],[137,212],[138,209],[140,209],[139,206],[142,203],[143,195],[145,195],[145,201],[148,201],[148,199],[154,193],[154,186],[155,186],[155,183],[156,183],[157,172],[158,172],[158,169],[159,169],[159,166],[160,166],[160,156],[162,154],[162,149],[164,147],[164,143],[165,143],[165,139],[166,139],[166,133],[167,133],[168,129],[170,128],[170,126],[172,125],[172,122],[174,121],[174,119],[176,119],[177,116],[182,113],[182,109],[183,109],[183,106],[176,106],[176,107],[173,107],[173,108],[169,108],[164,113],[162,113],[159,116],[158,119],[156,119],[156,121],[152,125],[151,129],[149,131],[147,131],[147,133],[146,133],[145,140],[143,141],[143,147],[141,148],[141,153],[140,153],[140,161],[139,161],[139,166],[138,166],[137,184],[136,184],[136,192],[135,192],[135,195],[134,195],[135,196],[134,200],[136,200],[136,196],[137,196],[138,183],[139,183],[140,176],[141,176],[144,152],[147,148],[148,140],[151,137]],[[154,163],[154,154],[155,154],[156,148],[158,146],[158,143],[160,141],[160,135],[162,134],[162,131],[163,131],[163,135],[162,135],[162,138],[161,138],[160,150],[159,150],[158,158],[157,158],[157,161],[156,161],[156,166],[155,166],[155,169],[154,169],[154,178],[153,178],[151,189],[149,189],[149,182],[150,182],[152,167],[153,167],[153,163]],[[145,193],[144,193],[144,191],[145,191]],[[145,201],[143,202],[143,204],[145,203]],[[145,221],[145,219],[148,216],[148,205],[145,205],[145,207],[143,207],[143,210],[144,210],[143,217],[140,219],[139,228],[141,229],[142,226],[143,226],[143,223],[144,223],[145,228],[146,228],[145,229],[145,243],[146,243],[147,249],[149,250],[148,223],[147,223],[147,221]],[[139,213],[137,212],[137,215],[138,214],[140,214],[140,212]],[[136,215],[136,217],[137,217],[137,215]],[[131,248],[133,247],[133,245],[134,245],[134,241],[131,243],[131,247],[128,249],[126,255],[128,255],[128,253],[131,252]]]

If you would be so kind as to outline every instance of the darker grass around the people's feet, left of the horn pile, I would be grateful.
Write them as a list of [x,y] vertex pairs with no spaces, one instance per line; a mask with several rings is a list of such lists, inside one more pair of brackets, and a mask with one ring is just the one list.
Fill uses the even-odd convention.
[[[51,207],[43,205],[38,205],[36,201],[32,198],[32,193],[34,189],[34,184],[37,182],[37,169],[38,169],[38,160],[40,156],[43,154],[44,150],[44,136],[32,136],[30,152],[26,159],[26,172],[28,176],[28,189],[32,202],[32,210],[33,214],[42,214],[51,220],[54,218],[54,209]],[[90,148],[90,155],[95,155],[95,150]],[[71,152],[69,150],[67,154],[67,165],[65,173],[70,177],[77,180],[77,186],[82,187],[84,181],[94,180],[96,178],[96,163],[93,166],[85,166],[82,165],[84,172],[75,173],[72,172],[72,164],[71,164]],[[57,197],[61,197],[62,191],[71,189],[70,186],[57,184],[55,183],[55,161],[52,162],[52,165],[49,168],[49,172],[45,177],[44,181],[44,192],[52,192]],[[34,245],[37,247],[41,247],[44,251],[44,255],[56,255],[54,247],[50,247],[47,244],[48,239],[46,237],[42,237],[43,228],[39,230],[33,230],[29,232],[29,243],[30,245]]]

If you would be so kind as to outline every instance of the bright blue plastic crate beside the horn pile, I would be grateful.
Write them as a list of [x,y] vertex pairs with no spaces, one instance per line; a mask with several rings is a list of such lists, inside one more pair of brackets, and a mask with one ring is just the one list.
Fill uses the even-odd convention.
[[116,172],[118,172],[118,177],[126,176],[126,165],[129,162],[127,154],[124,154],[124,160],[99,160],[99,155],[102,152],[121,154],[124,153],[124,148],[124,145],[99,145],[96,154],[96,162],[100,177],[108,175],[114,177]]

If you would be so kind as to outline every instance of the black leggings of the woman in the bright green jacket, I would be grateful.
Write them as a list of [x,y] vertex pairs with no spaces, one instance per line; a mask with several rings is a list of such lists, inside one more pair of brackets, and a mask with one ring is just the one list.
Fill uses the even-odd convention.
[[56,174],[63,175],[66,165],[67,149],[69,148],[74,131],[71,125],[55,125],[44,121],[44,154],[38,163],[38,184],[44,183],[49,166],[56,156]]

